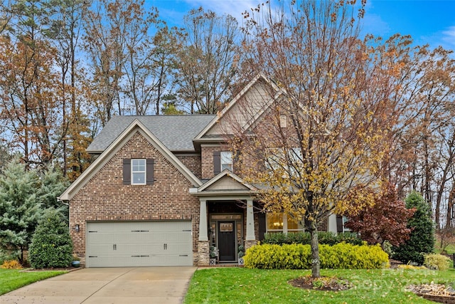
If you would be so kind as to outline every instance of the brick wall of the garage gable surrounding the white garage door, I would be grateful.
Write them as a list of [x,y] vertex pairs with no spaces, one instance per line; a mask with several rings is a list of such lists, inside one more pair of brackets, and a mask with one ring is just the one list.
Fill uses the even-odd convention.
[[[153,158],[154,184],[124,185],[124,158]],[[142,221],[191,219],[193,222],[193,260],[198,251],[199,200],[191,196],[186,177],[137,132],[95,177],[70,201],[70,227],[74,251],[85,263],[87,221]],[[196,264],[196,263],[195,263]]]

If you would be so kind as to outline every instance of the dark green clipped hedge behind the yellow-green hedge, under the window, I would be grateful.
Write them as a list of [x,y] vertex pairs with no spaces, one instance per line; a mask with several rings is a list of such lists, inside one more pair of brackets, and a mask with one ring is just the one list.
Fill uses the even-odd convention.
[[[333,232],[318,232],[318,239],[320,244],[326,245],[335,245],[336,243],[351,243],[353,245],[362,245],[362,240],[358,237],[357,234],[352,232],[345,232],[343,234],[334,234]],[[291,244],[291,243],[301,243],[304,245],[309,245],[311,243],[311,236],[309,232],[296,232],[284,234],[282,232],[278,233],[267,233],[264,234],[264,240],[262,243],[268,244]]]

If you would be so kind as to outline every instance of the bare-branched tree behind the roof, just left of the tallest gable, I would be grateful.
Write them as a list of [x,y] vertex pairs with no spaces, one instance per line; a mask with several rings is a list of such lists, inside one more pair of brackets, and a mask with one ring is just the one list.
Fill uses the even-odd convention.
[[191,113],[213,114],[223,108],[238,73],[237,21],[200,7],[185,16],[185,23],[174,75],[178,97]]

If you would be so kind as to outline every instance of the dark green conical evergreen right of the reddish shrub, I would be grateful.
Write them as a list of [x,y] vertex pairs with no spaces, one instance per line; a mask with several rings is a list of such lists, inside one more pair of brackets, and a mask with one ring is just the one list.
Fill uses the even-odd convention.
[[414,215],[407,222],[412,229],[410,239],[393,248],[394,258],[402,262],[424,263],[424,254],[434,249],[434,224],[431,210],[421,194],[411,192],[405,199],[406,208],[415,208]]

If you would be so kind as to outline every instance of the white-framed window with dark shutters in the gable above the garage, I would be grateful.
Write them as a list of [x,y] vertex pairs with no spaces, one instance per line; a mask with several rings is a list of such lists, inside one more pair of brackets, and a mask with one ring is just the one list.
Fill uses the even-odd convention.
[[154,183],[154,159],[123,159],[123,184],[144,185]]

